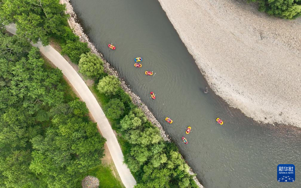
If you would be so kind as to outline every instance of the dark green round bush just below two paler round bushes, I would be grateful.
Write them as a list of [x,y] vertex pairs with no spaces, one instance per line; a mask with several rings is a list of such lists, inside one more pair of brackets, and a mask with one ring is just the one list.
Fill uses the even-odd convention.
[[109,103],[104,105],[106,116],[110,119],[119,119],[124,112],[124,105],[119,99],[111,99]]

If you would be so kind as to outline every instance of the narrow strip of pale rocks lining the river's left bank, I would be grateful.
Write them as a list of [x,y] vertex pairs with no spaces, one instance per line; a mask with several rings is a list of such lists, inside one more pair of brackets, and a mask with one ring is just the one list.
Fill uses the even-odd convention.
[[[129,86],[126,84],[126,82],[121,79],[118,75],[118,72],[116,70],[114,70],[114,68],[110,65],[110,63],[107,62],[107,60],[104,58],[103,54],[101,54],[96,48],[95,46],[92,44],[92,42],[90,42],[88,36],[83,32],[83,28],[82,26],[77,23],[77,16],[75,14],[75,12],[73,11],[73,7],[70,4],[69,0],[60,0],[60,2],[62,4],[66,5],[66,14],[70,15],[70,18],[68,19],[68,23],[70,25],[70,27],[73,29],[73,32],[79,36],[79,40],[81,42],[86,42],[88,43],[88,47],[91,49],[91,52],[96,54],[98,57],[100,57],[103,61],[104,61],[104,69],[105,72],[108,73],[109,75],[113,75],[116,76],[119,81],[121,82],[121,87],[123,88],[124,91],[126,91],[126,93],[128,93],[131,98],[132,98],[132,102],[137,105],[145,114],[145,116],[147,117],[147,119],[157,128],[159,128],[160,130],[160,134],[161,137],[163,138],[163,140],[171,142],[169,135],[165,133],[165,131],[163,130],[162,125],[157,121],[157,119],[154,117],[154,115],[152,114],[152,112],[148,109],[148,107],[140,100],[140,97],[137,96],[134,92],[131,91],[131,89],[129,88]],[[182,157],[183,159],[183,157]],[[194,172],[192,171],[192,169],[190,168],[189,174],[191,174],[193,176],[194,181],[197,183],[197,185],[200,188],[203,188],[203,186],[200,184],[199,180],[197,179],[197,177],[195,176]]]

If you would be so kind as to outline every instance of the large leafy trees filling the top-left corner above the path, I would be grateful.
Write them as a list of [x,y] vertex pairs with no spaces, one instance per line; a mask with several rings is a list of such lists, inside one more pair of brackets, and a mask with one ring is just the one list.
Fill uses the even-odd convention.
[[18,35],[44,45],[63,34],[67,18],[59,0],[0,0],[0,23],[15,23]]

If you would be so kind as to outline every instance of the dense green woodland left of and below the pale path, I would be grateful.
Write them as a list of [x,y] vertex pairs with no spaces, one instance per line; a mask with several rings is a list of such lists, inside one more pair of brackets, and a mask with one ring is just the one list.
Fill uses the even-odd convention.
[[21,36],[0,33],[0,187],[74,187],[101,163],[105,139]]

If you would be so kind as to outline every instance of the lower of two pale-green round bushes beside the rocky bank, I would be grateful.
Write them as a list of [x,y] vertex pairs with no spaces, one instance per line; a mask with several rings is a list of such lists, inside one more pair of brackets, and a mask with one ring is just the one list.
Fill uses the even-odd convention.
[[116,95],[120,91],[120,82],[115,76],[105,76],[99,80],[97,89],[106,96]]

